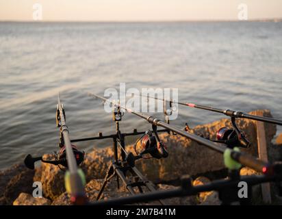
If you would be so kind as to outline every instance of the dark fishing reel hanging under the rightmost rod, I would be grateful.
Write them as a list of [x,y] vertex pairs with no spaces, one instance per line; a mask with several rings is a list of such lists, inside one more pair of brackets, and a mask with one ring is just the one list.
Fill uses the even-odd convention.
[[229,148],[240,146],[242,148],[248,148],[251,143],[246,139],[243,131],[241,131],[235,123],[235,117],[231,117],[231,123],[233,129],[228,127],[222,127],[216,133],[216,139],[214,142],[227,144]]

